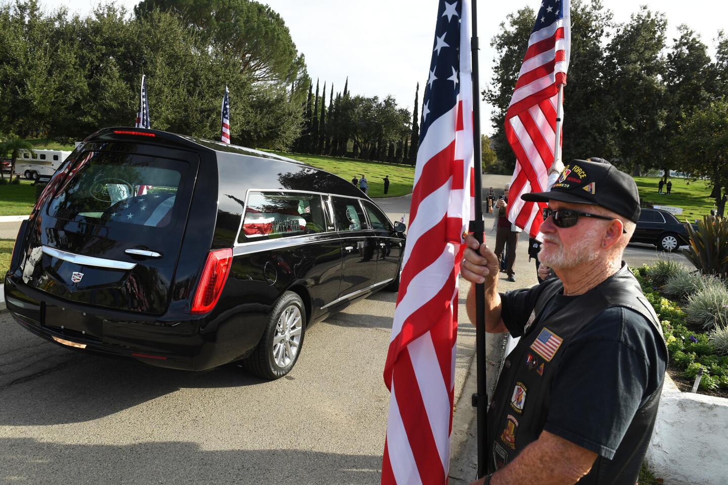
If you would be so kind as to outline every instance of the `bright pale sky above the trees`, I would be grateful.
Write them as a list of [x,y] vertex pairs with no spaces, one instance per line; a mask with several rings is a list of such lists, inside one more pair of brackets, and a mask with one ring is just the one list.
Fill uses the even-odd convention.
[[[349,90],[354,95],[385,97],[393,95],[397,104],[414,105],[416,84],[427,80],[434,43],[437,0],[258,0],[278,12],[288,25],[299,52],[306,56],[312,79],[327,83],[327,92],[334,85],[344,88],[349,77]],[[49,9],[65,5],[82,15],[91,12],[98,1],[41,0]],[[121,0],[132,9],[138,0]],[[522,7],[539,7],[540,0],[480,1],[478,3],[478,35],[480,36],[480,87],[486,87],[492,76],[497,53],[490,41],[507,14]],[[665,13],[668,20],[668,45],[676,36],[677,26],[686,23],[713,48],[716,34],[727,17],[724,0],[608,0],[614,21],[629,20],[638,5]],[[328,95],[327,95],[328,97]],[[421,106],[420,106],[421,108]],[[488,135],[494,132],[490,121],[491,107],[481,100],[481,127]],[[569,116],[569,113],[565,113]]]

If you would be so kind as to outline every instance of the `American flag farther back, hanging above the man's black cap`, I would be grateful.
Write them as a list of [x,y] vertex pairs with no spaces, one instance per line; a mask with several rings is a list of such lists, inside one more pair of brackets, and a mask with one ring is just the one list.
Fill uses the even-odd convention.
[[516,159],[508,220],[529,231],[531,237],[539,233],[541,209],[546,204],[523,201],[521,194],[547,190],[558,89],[566,84],[570,47],[569,0],[543,0],[505,116],[505,135]]

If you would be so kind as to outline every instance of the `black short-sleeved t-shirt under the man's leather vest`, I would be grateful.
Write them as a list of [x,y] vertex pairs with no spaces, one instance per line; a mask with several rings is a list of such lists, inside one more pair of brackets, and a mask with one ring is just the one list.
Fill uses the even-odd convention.
[[[501,316],[513,337],[523,334],[538,294],[538,286],[501,294]],[[539,321],[575,298],[556,294]],[[537,323],[529,326],[527,332],[536,328]],[[544,429],[599,455],[592,472],[580,483],[592,483],[588,478],[595,470],[604,476],[604,467],[614,468],[624,476],[626,462],[633,462],[617,463],[612,459],[637,410],[662,385],[667,356],[659,338],[640,313],[614,307],[604,310],[569,342],[553,378]],[[649,436],[646,438],[649,440]],[[620,457],[625,458],[620,451]],[[628,458],[631,453],[626,455]],[[639,464],[635,477],[638,467]]]

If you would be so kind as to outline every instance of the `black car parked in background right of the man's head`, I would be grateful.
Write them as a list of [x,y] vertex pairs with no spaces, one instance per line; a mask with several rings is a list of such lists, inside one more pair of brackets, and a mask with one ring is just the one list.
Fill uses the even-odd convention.
[[673,252],[690,244],[690,237],[687,223],[681,223],[670,212],[642,209],[630,242],[654,244],[660,251]]

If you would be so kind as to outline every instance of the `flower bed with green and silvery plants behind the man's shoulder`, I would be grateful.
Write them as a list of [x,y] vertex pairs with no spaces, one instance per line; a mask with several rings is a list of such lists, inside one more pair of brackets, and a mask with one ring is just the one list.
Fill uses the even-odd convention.
[[[678,388],[692,390],[697,372],[703,369],[698,392],[728,397],[728,355],[724,355],[725,344],[719,340],[727,332],[724,316],[728,311],[728,291],[724,284],[698,273],[697,283],[693,281],[685,291],[678,292],[684,299],[675,302],[661,293],[674,290],[676,281],[688,281],[686,268],[674,262],[657,262],[634,273],[662,322],[669,352],[668,373]],[[708,310],[703,308],[705,305]]]

